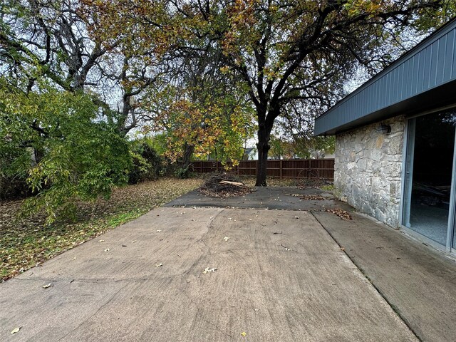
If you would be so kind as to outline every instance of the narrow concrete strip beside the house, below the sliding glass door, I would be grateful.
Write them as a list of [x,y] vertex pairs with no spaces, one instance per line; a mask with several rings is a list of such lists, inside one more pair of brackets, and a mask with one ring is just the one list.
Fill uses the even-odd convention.
[[359,214],[313,214],[421,341],[456,341],[454,260]]

